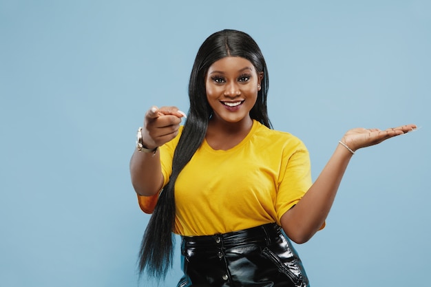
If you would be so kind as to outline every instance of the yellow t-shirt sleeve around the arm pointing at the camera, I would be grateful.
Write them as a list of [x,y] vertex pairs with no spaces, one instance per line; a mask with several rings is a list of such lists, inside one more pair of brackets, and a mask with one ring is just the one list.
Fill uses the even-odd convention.
[[[174,138],[174,140],[171,140],[170,142],[165,143],[165,145],[159,147],[158,152],[160,152],[160,164],[162,166],[162,175],[164,180],[163,187],[165,187],[169,182],[169,177],[172,173],[172,158],[174,158],[174,151],[176,145],[178,144],[179,138],[180,136],[178,135],[176,138]],[[138,204],[143,212],[148,214],[153,213],[154,209],[156,208],[160,191],[152,196],[138,195]]]

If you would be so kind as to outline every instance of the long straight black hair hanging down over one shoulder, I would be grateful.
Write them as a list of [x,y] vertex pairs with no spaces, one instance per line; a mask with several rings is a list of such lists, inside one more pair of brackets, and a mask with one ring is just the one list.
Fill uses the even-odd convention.
[[244,32],[222,30],[211,34],[200,46],[189,81],[190,109],[172,160],[172,173],[164,187],[154,213],[151,215],[140,246],[138,268],[150,277],[165,278],[174,255],[175,197],[174,187],[178,175],[202,144],[212,109],[207,101],[205,76],[209,67],[227,56],[240,56],[249,60],[257,72],[263,72],[261,89],[250,116],[266,127],[272,128],[268,117],[266,95],[269,80],[264,56],[257,43]]

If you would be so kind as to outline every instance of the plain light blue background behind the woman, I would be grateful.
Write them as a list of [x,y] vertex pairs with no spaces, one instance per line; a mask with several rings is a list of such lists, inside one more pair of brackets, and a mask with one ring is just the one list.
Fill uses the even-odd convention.
[[[357,151],[324,231],[295,245],[312,286],[427,286],[430,1],[0,0],[0,286],[156,286],[129,158],[151,105],[188,110],[198,47],[248,32],[275,129],[313,179],[353,127],[421,129]],[[178,240],[177,240],[178,242]],[[161,286],[176,286],[179,255]]]

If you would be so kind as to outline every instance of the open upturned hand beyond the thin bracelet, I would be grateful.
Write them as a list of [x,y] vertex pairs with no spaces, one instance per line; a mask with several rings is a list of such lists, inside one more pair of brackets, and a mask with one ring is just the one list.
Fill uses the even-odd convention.
[[343,138],[341,138],[341,142],[344,142],[350,149],[356,151],[362,147],[377,145],[388,138],[406,134],[416,128],[416,125],[403,125],[401,127],[392,127],[382,131],[381,129],[364,129],[359,127],[347,131]]

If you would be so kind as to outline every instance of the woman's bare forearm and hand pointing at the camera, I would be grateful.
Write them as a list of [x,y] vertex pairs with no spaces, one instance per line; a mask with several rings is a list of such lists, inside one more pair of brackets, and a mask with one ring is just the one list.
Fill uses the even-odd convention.
[[[142,129],[144,146],[155,149],[175,138],[182,116],[176,107],[151,107],[145,114]],[[159,151],[145,153],[135,149],[130,160],[130,177],[138,195],[151,196],[160,191],[164,179]]]

